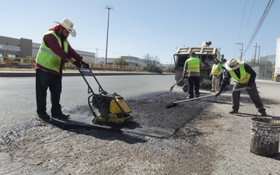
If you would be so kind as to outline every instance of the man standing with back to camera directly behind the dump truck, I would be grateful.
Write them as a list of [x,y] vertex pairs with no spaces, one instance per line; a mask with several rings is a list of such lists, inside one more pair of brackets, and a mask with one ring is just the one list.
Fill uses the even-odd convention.
[[[186,60],[183,69],[183,77],[188,72],[188,99],[200,97],[200,67],[203,67],[202,61],[195,55],[195,52],[190,52],[190,58]],[[195,95],[193,93],[193,84],[195,84]]]

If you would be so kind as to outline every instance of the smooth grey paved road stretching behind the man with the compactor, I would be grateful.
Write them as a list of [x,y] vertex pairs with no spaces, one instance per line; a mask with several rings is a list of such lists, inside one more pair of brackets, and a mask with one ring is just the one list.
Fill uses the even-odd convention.
[[[170,76],[98,76],[97,79],[107,92],[117,92],[132,99],[143,94],[168,91],[175,83]],[[94,78],[87,77],[97,92]],[[181,88],[174,88],[174,91]],[[47,112],[50,113],[50,96],[47,97]],[[15,130],[17,127],[33,125],[36,122],[35,78],[0,78],[0,133]],[[87,104],[87,85],[81,76],[62,78],[62,107]]]

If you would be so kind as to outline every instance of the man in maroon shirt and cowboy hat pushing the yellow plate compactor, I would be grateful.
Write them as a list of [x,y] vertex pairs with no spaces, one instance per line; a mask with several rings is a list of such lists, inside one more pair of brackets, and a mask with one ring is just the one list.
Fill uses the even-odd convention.
[[[62,69],[66,62],[78,66],[89,65],[83,62],[83,57],[71,48],[67,37],[76,36],[73,22],[64,19],[59,25],[49,29],[43,36],[43,41],[36,57],[36,104],[38,118],[49,119],[46,113],[47,90],[50,89],[50,101],[52,102],[51,113],[53,118],[68,118],[69,115],[62,113],[59,104],[62,92]],[[73,60],[73,59],[75,60]]]

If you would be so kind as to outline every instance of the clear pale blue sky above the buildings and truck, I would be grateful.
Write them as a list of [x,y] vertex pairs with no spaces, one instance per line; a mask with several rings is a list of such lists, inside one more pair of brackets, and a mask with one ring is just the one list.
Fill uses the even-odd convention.
[[[255,0],[253,6],[254,0],[8,0],[1,1],[0,35],[41,43],[55,21],[67,18],[77,31],[75,38],[69,36],[71,46],[90,52],[98,48],[98,57],[105,57],[108,10],[104,7],[112,4],[116,10],[110,10],[108,57],[142,57],[149,52],[158,55],[163,64],[170,64],[177,46],[200,47],[202,42],[211,41],[231,59],[240,55],[236,42],[246,47],[268,1]],[[280,37],[279,6],[276,0],[244,59],[255,54],[255,43],[260,45],[262,56],[275,54],[276,37]]]

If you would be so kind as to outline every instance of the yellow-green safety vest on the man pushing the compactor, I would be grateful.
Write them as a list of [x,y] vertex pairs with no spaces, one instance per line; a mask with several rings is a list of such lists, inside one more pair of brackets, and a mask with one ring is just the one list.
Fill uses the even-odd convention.
[[[60,38],[55,34],[55,31],[48,31],[47,33],[44,34],[44,36],[47,34],[53,34],[57,38],[60,47],[62,47]],[[69,41],[66,39],[63,44],[64,44],[64,51],[68,53]],[[41,66],[44,66],[45,68],[57,71],[59,73],[61,61],[62,61],[61,57],[59,57],[54,52],[52,52],[52,50],[45,45],[45,42],[42,41],[40,50],[38,51],[38,55],[36,57],[36,62]],[[63,64],[63,69],[64,69],[64,64]]]

